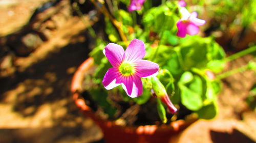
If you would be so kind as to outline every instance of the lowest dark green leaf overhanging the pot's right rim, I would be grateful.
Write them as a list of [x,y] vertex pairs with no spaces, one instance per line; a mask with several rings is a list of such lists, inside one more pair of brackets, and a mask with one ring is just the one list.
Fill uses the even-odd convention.
[[211,104],[208,104],[206,106],[203,106],[201,109],[196,111],[198,114],[199,119],[212,119],[215,118],[217,115],[217,105],[212,102]]

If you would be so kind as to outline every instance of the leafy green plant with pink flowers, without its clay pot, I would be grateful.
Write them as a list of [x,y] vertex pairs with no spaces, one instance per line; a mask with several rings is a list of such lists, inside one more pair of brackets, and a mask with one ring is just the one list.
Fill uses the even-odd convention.
[[[119,99],[146,110],[156,107],[162,123],[167,123],[170,114],[172,120],[186,116],[184,108],[199,118],[214,118],[225,52],[214,37],[193,36],[206,21],[196,11],[190,13],[185,0],[161,2],[118,1],[120,10],[115,14],[104,11],[108,37],[102,39],[111,42],[97,39],[90,53],[98,65],[92,96],[111,118],[119,116]],[[122,9],[123,4],[127,9]],[[121,96],[118,103],[115,95]]]

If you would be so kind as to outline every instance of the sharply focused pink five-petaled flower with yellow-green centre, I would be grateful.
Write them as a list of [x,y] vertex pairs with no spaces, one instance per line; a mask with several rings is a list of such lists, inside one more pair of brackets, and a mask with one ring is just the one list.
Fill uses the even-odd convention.
[[109,43],[103,49],[103,53],[113,66],[102,80],[106,90],[121,84],[127,95],[132,98],[138,97],[143,90],[141,77],[153,77],[158,74],[158,64],[142,60],[146,51],[141,40],[132,40],[125,51],[122,46]]

